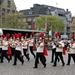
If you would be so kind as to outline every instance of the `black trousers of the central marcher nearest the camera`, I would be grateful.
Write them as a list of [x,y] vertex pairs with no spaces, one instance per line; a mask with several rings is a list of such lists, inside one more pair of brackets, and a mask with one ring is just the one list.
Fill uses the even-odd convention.
[[38,67],[38,61],[42,62],[42,64],[45,66],[46,65],[46,59],[44,58],[44,55],[43,53],[36,53],[36,57],[35,57],[35,67],[37,68]]

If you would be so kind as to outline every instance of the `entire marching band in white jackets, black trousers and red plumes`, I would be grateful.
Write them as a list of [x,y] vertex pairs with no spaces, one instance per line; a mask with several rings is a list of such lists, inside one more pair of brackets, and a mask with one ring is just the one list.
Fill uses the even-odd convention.
[[[34,39],[33,35],[30,37],[25,36],[17,36],[17,37],[7,37],[0,36],[0,63],[4,62],[4,57],[7,59],[8,63],[14,58],[13,65],[17,65],[17,59],[20,60],[22,65],[24,64],[24,56],[29,61],[29,50],[33,55],[35,62],[33,68],[38,68],[39,61],[43,64],[44,68],[46,68],[46,57],[44,55],[44,34],[41,33],[39,39]],[[35,42],[36,40],[36,42]],[[36,54],[34,53],[33,46],[36,46]],[[51,63],[53,63],[53,67],[57,66],[58,62],[61,60],[62,66],[65,65],[65,61],[63,58],[63,52],[68,52],[68,60],[67,65],[70,65],[71,57],[73,58],[75,64],[75,39],[70,41],[62,40],[60,37],[57,37],[53,40],[50,40],[50,45],[52,46],[52,57]],[[9,48],[10,47],[10,48]],[[8,49],[9,48],[9,49]],[[46,49],[46,48],[45,48]],[[45,50],[47,54],[47,50]],[[48,54],[47,54],[48,55]],[[40,60],[39,60],[40,59]]]

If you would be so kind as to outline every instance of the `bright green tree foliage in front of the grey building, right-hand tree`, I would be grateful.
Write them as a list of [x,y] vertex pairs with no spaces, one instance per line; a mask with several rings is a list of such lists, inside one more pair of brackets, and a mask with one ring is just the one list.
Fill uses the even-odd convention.
[[62,32],[64,29],[64,21],[61,20],[58,16],[51,16],[51,15],[40,15],[39,17],[35,18],[36,22],[36,29],[44,30],[45,23],[47,23],[48,28],[47,31],[51,30],[53,32],[60,31]]

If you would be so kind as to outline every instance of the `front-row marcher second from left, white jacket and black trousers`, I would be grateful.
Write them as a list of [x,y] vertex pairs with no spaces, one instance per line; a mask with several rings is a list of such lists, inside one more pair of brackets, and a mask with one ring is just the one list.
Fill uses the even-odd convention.
[[17,38],[16,39],[16,48],[15,48],[15,52],[14,52],[14,64],[13,65],[17,65],[17,58],[22,62],[22,65],[23,65],[24,60],[23,60],[22,56],[23,56],[22,45],[21,45],[20,39]]

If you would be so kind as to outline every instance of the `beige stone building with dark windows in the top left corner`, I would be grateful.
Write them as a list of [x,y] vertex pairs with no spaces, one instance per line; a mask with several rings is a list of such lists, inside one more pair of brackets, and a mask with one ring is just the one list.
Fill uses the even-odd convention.
[[16,6],[14,0],[2,0],[0,3],[0,18],[3,20],[2,16],[9,13],[15,13]]

